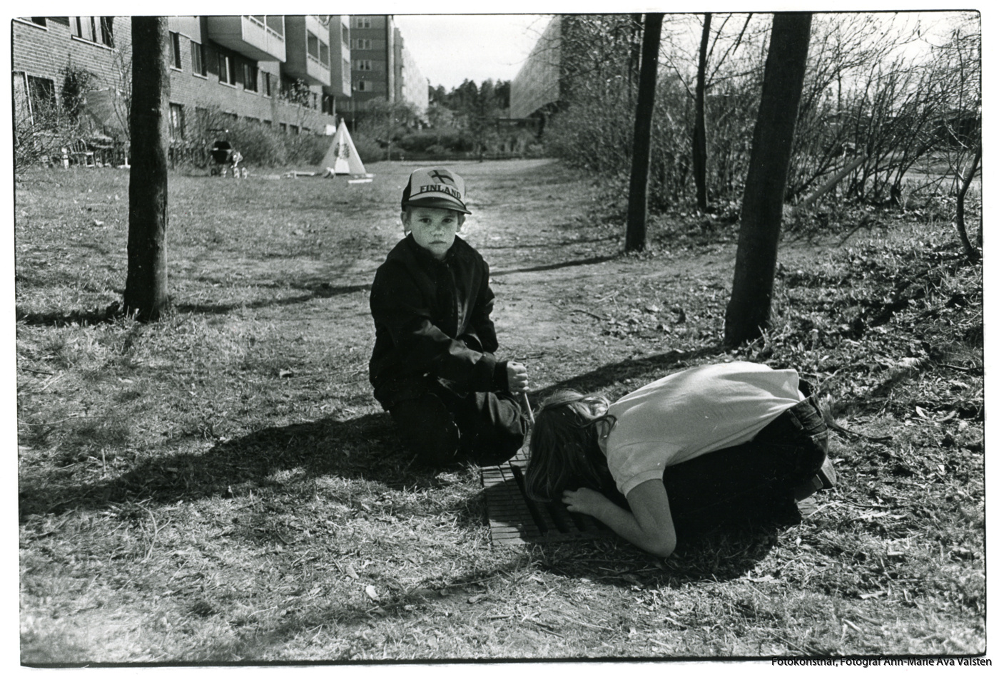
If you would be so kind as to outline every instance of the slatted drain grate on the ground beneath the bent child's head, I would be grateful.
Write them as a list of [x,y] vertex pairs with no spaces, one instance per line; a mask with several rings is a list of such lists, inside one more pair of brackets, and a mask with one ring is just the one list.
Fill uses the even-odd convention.
[[520,450],[506,463],[482,468],[486,512],[495,543],[574,541],[613,534],[595,518],[569,513],[560,501],[528,499],[523,487],[526,465],[526,455]]

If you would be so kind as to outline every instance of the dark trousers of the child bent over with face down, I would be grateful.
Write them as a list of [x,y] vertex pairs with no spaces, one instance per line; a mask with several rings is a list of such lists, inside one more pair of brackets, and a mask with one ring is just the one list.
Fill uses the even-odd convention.
[[828,444],[822,413],[809,397],[749,442],[667,466],[662,481],[677,536],[792,514],[795,490],[822,466]]

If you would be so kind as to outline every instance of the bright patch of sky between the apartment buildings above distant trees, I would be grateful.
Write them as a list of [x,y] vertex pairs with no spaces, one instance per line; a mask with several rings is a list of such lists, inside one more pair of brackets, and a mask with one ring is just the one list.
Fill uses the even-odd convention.
[[465,80],[512,80],[549,16],[532,14],[396,14],[404,44],[431,86],[448,91]]

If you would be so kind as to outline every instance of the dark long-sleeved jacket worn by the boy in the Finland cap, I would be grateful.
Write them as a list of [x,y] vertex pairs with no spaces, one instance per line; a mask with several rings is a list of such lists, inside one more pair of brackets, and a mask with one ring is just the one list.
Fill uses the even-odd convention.
[[412,395],[415,377],[449,380],[460,391],[505,390],[498,361],[490,268],[461,238],[444,261],[413,240],[396,245],[375,274],[375,348],[369,374],[386,408]]

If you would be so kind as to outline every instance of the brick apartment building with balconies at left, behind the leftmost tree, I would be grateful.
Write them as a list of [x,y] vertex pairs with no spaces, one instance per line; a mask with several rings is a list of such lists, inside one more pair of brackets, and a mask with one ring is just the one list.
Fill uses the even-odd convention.
[[[352,94],[350,19],[341,15],[169,18],[170,126],[201,140],[209,113],[290,134],[332,133]],[[22,17],[12,21],[15,111],[61,97],[66,69],[89,75],[86,110],[106,135],[127,125],[130,17]]]

